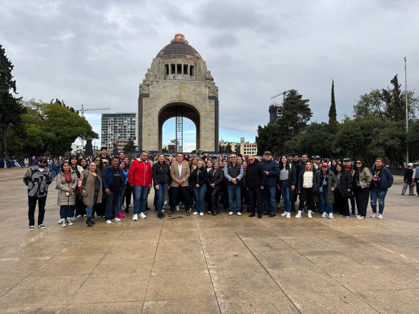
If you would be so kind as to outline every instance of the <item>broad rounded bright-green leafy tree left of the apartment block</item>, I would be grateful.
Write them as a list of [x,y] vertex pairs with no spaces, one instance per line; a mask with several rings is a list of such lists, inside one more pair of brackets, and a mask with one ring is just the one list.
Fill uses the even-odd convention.
[[28,111],[21,116],[22,123],[14,129],[16,145],[29,154],[41,156],[71,151],[78,137],[97,139],[91,125],[78,113],[56,103],[28,101]]

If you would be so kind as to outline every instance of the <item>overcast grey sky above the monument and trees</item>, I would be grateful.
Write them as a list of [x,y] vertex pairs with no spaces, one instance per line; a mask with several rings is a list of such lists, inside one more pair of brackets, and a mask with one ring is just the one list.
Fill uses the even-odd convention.
[[[138,85],[156,54],[183,33],[219,88],[220,138],[253,141],[270,97],[295,88],[312,121],[338,119],[360,94],[399,74],[419,83],[419,1],[2,1],[0,43],[19,96],[137,112]],[[100,135],[101,111],[86,118]],[[175,137],[163,128],[163,144]],[[185,148],[194,125],[186,123]],[[97,140],[96,140],[97,141]],[[97,144],[97,143],[96,143]]]

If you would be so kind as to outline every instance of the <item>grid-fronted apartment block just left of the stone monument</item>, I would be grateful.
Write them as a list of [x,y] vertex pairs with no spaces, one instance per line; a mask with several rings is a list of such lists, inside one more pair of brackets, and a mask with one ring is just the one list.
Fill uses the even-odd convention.
[[138,131],[137,113],[102,113],[101,146],[114,147],[117,139],[134,139]]

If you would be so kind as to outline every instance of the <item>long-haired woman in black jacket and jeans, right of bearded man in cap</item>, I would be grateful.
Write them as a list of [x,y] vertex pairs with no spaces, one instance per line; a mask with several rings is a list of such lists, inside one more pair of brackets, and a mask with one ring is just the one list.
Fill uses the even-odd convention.
[[[297,185],[297,172],[295,167],[287,162],[287,156],[282,155],[279,161],[279,177],[278,189],[281,190],[282,198],[284,199],[285,211],[281,216],[291,218],[291,192],[295,190]],[[274,217],[276,214],[270,214],[269,217]]]

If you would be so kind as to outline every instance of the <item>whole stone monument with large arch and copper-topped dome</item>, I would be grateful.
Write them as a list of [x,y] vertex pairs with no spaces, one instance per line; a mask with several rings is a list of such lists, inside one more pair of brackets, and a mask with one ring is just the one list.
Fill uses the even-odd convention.
[[153,59],[138,97],[138,149],[160,152],[163,123],[176,117],[176,151],[183,151],[183,117],[197,128],[197,149],[218,151],[218,88],[199,53],[176,34]]

